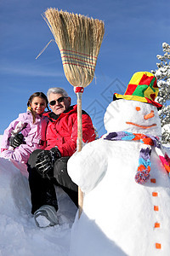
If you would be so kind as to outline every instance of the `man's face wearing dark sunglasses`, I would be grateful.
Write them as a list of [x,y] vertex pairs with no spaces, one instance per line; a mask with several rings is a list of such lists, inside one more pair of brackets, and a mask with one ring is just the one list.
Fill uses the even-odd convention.
[[[59,100],[59,102],[57,100]],[[71,98],[65,97],[59,93],[51,93],[48,96],[48,101],[49,101],[49,107],[57,115],[60,113],[63,113],[71,105]],[[50,104],[50,102],[52,104]]]

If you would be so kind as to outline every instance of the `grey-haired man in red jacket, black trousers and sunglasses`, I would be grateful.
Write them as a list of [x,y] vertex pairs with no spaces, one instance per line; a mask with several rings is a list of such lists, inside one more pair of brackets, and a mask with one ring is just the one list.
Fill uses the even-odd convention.
[[[77,205],[77,184],[67,174],[67,160],[77,150],[77,105],[62,88],[48,90],[52,112],[45,113],[49,122],[45,150],[35,150],[28,160],[31,189],[31,213],[38,227],[58,224],[58,202],[54,185],[61,187]],[[94,141],[95,132],[88,113],[82,111],[82,141]]]

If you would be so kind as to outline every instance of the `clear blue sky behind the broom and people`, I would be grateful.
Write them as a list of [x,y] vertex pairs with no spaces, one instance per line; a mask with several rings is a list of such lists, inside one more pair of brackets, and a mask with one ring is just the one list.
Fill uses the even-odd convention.
[[82,94],[82,108],[93,119],[99,136],[103,117],[114,92],[123,94],[133,73],[156,69],[161,44],[170,42],[170,2],[167,0],[1,0],[0,1],[0,134],[26,112],[35,91],[65,88],[77,103],[65,78],[59,49],[42,14],[49,7],[105,21],[95,79]]

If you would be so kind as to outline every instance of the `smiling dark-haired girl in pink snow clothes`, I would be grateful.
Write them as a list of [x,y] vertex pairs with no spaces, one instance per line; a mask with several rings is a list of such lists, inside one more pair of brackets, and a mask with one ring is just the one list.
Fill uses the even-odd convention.
[[[48,108],[48,99],[42,92],[32,94],[27,102],[27,112],[20,113],[3,133],[1,157],[27,163],[32,151],[45,148],[45,132],[48,118],[42,113]],[[11,147],[16,134],[23,138],[19,147]],[[12,143],[14,145],[14,143]]]

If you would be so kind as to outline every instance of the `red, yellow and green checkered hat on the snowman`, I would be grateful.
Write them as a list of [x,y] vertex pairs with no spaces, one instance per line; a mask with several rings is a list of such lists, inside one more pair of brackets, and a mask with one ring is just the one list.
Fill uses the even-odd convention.
[[127,85],[127,90],[124,95],[115,93],[113,101],[117,99],[125,99],[129,101],[150,103],[156,108],[161,108],[162,105],[155,102],[159,88],[157,87],[156,77],[150,72],[137,72],[133,74],[132,79]]

